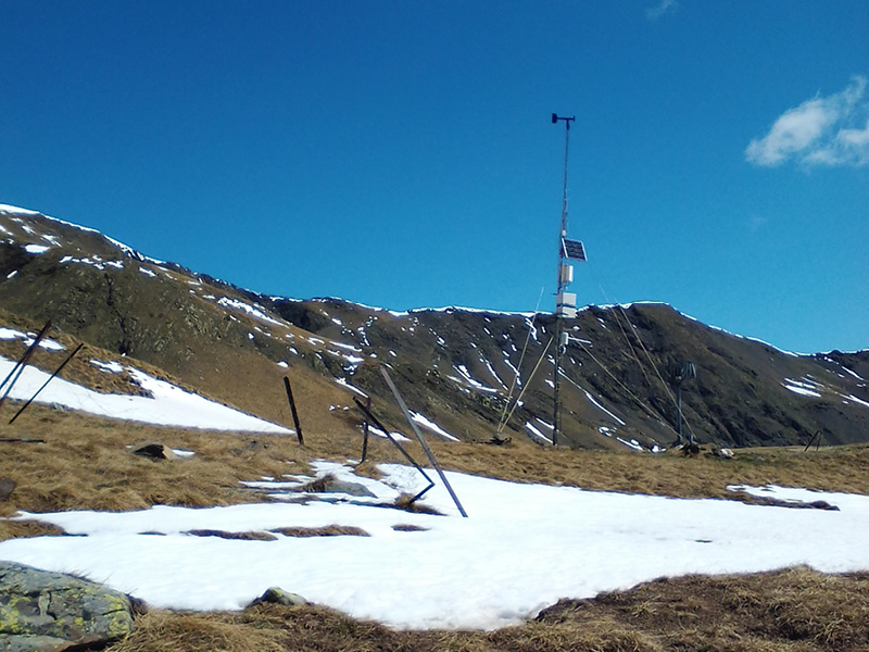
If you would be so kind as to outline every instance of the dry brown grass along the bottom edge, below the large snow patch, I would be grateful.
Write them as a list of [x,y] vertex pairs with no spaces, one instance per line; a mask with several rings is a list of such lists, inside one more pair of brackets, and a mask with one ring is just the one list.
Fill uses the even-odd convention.
[[533,622],[489,632],[393,631],[318,606],[158,611],[110,650],[858,652],[869,647],[867,623],[869,574],[792,568],[652,581],[594,600],[562,601]]

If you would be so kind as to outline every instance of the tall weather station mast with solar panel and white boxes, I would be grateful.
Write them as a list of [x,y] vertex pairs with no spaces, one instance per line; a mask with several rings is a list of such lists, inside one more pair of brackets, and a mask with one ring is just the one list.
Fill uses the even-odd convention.
[[558,230],[558,283],[555,292],[555,374],[553,378],[552,444],[558,446],[562,431],[562,415],[558,393],[562,386],[562,359],[567,350],[569,334],[564,328],[564,319],[577,316],[577,296],[568,292],[574,280],[574,267],[569,261],[584,261],[585,250],[579,240],[567,238],[567,154],[570,145],[570,123],[576,116],[563,117],[552,114],[552,124],[564,121],[564,190],[562,195],[562,228]]

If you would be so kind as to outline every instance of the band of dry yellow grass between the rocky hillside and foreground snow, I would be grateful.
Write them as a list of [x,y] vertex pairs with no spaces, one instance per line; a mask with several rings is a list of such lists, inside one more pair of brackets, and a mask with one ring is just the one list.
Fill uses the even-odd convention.
[[[11,414],[14,405],[4,408]],[[9,412],[7,412],[9,409]],[[302,447],[294,437],[164,428],[101,419],[32,405],[0,438],[45,443],[0,442],[0,477],[17,487],[0,503],[0,515],[17,510],[131,510],[153,504],[205,506],[264,500],[243,479],[308,471],[312,459],[345,461],[361,451],[353,429],[311,430]],[[152,461],[130,453],[159,442],[192,450],[189,460]],[[738,451],[734,460],[680,455],[541,449],[431,441],[446,468],[525,482],[662,496],[733,498],[728,484],[779,484],[869,493],[869,446],[811,450]],[[407,448],[427,462],[418,444]],[[373,439],[360,472],[376,475],[375,462],[404,462],[387,441]],[[34,530],[30,527],[30,531]],[[0,522],[0,540],[22,536],[21,525]]]

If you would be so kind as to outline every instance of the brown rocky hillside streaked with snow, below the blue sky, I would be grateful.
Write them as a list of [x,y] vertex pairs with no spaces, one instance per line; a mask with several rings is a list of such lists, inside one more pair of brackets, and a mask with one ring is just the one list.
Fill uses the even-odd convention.
[[[512,389],[521,402],[504,435],[543,444],[552,436],[547,314],[395,313],[266,297],[12,206],[0,206],[0,308],[30,328],[53,317],[55,331],[284,424],[288,375],[313,434],[356,437],[352,399],[362,394],[388,426],[405,429],[379,371],[388,365],[433,435],[490,440]],[[559,443],[669,447],[677,418],[668,369],[685,362],[696,377],[682,385],[683,431],[701,442],[804,443],[818,431],[824,443],[869,440],[869,351],[797,356],[652,303],[589,306],[568,328]]]

